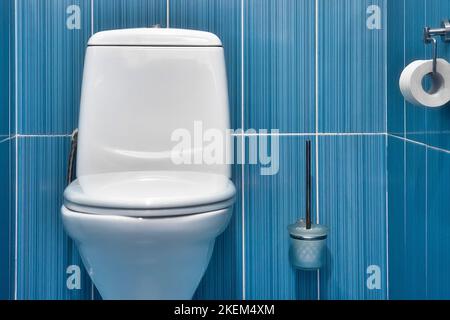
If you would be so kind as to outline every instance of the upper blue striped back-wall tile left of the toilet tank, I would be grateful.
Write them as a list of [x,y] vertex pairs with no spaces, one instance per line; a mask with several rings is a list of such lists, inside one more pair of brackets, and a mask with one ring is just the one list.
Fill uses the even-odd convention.
[[[66,10],[80,8],[80,29]],[[89,0],[17,1],[18,128],[21,134],[64,134],[77,124]]]

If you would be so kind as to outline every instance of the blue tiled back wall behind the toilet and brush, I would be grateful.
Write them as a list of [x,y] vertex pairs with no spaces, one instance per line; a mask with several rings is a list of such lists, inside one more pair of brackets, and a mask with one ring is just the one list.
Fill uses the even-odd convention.
[[[233,219],[195,298],[387,298],[387,0],[15,3],[17,88],[10,98],[19,98],[18,126],[8,141],[18,151],[11,164],[17,174],[9,170],[11,190],[18,190],[17,298],[92,297],[85,274],[82,290],[65,289],[65,268],[80,261],[59,218],[85,45],[92,32],[154,24],[218,34],[233,128],[281,132],[277,175],[234,166]],[[72,4],[81,9],[79,30],[65,26]],[[371,5],[381,10],[380,29],[366,27]],[[331,230],[320,273],[296,271],[287,258],[286,227],[304,214],[306,139],[313,141],[314,209]],[[371,265],[380,269],[380,288],[366,286]]]

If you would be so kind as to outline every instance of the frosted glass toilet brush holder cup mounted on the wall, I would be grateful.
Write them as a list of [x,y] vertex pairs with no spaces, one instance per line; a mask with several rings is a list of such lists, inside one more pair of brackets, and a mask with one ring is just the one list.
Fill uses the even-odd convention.
[[290,236],[289,256],[291,264],[300,270],[317,270],[324,265],[328,228],[300,220],[288,226]]

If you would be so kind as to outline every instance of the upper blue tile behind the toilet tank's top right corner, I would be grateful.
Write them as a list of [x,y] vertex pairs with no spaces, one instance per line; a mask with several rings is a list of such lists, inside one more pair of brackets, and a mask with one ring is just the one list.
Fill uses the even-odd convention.
[[209,31],[222,40],[231,127],[241,128],[241,0],[172,0],[170,26]]

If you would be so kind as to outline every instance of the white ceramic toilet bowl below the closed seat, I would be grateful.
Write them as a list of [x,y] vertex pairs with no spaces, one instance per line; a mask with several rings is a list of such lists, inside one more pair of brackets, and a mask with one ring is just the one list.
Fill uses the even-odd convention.
[[191,299],[231,214],[144,219],[62,207],[64,226],[103,299]]

